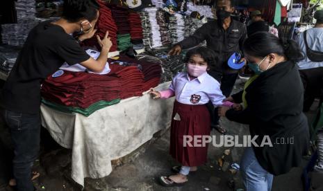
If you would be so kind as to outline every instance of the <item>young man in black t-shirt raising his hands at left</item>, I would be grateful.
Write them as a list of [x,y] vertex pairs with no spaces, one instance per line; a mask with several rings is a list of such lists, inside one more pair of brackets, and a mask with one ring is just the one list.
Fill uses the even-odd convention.
[[[95,0],[65,0],[63,17],[58,21],[44,21],[31,30],[17,57],[1,93],[3,116],[10,128],[15,156],[13,176],[19,191],[34,190],[31,167],[40,147],[40,87],[42,80],[62,66],[78,64],[100,72],[106,65],[112,43],[108,31],[97,40],[101,55],[90,57],[78,44],[91,38],[99,17],[99,4]],[[78,39],[72,37],[79,32]]]

